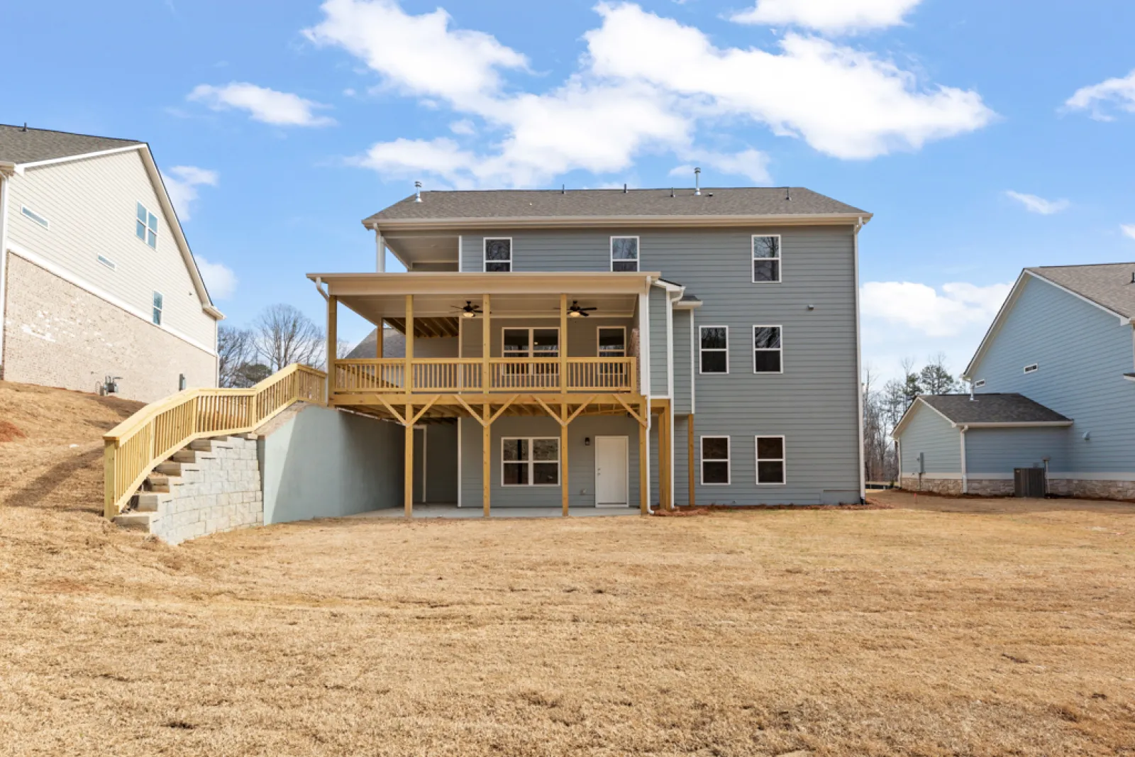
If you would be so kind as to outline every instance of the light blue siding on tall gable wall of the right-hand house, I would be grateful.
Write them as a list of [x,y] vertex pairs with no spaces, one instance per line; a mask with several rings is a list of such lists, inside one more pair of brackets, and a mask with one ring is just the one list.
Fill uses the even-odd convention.
[[[1024,373],[1037,363],[1040,370]],[[1135,472],[1132,327],[1095,305],[1027,277],[973,379],[980,392],[1018,392],[1075,421],[1068,466],[1054,473]],[[1085,440],[1084,435],[1091,438]]]

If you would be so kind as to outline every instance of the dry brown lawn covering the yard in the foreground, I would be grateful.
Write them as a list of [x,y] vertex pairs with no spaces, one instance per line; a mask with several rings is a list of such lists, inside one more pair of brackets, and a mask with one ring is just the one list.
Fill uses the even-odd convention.
[[132,409],[0,384],[26,434],[0,444],[0,754],[1135,755],[1133,507],[170,548],[98,514],[98,434]]

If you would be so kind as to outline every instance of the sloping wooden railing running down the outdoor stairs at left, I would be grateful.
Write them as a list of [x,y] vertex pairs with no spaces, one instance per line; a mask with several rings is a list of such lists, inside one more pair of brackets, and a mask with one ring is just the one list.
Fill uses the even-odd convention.
[[326,402],[327,375],[288,365],[249,389],[186,389],[151,403],[102,437],[103,512],[114,518],[153,469],[194,439],[251,431],[294,402]]

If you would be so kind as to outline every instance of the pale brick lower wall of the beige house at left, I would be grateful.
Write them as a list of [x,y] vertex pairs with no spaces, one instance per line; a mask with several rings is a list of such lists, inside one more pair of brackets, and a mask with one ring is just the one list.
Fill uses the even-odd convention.
[[8,255],[3,378],[99,392],[120,376],[119,396],[153,402],[187,387],[216,386],[217,359],[65,281]]

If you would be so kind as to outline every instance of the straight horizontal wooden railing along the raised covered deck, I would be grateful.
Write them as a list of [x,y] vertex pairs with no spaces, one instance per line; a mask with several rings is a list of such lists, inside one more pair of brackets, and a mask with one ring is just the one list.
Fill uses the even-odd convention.
[[[566,382],[561,384],[558,358],[490,358],[488,392],[634,392],[633,358],[569,358]],[[411,393],[477,393],[484,390],[480,358],[418,358],[411,361]],[[335,361],[334,394],[406,393],[406,361],[402,358]]]

